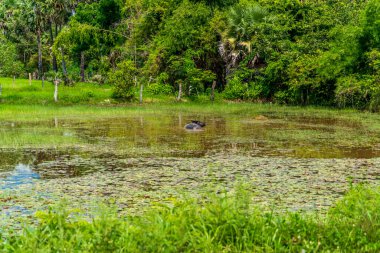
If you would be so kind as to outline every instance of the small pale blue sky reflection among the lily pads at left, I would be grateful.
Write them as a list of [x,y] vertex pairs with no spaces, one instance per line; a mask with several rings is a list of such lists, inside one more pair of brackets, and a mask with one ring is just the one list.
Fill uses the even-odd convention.
[[0,181],[1,190],[12,190],[21,185],[32,184],[40,175],[34,172],[29,165],[18,164],[6,178]]

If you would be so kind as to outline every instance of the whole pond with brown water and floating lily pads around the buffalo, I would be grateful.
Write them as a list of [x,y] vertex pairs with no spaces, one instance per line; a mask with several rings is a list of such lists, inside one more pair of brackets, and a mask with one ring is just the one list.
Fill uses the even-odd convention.
[[[195,119],[207,126],[186,131]],[[3,222],[62,199],[139,213],[236,182],[248,183],[264,207],[323,211],[350,182],[380,182],[379,132],[357,120],[273,112],[54,117],[3,121],[0,138]]]

